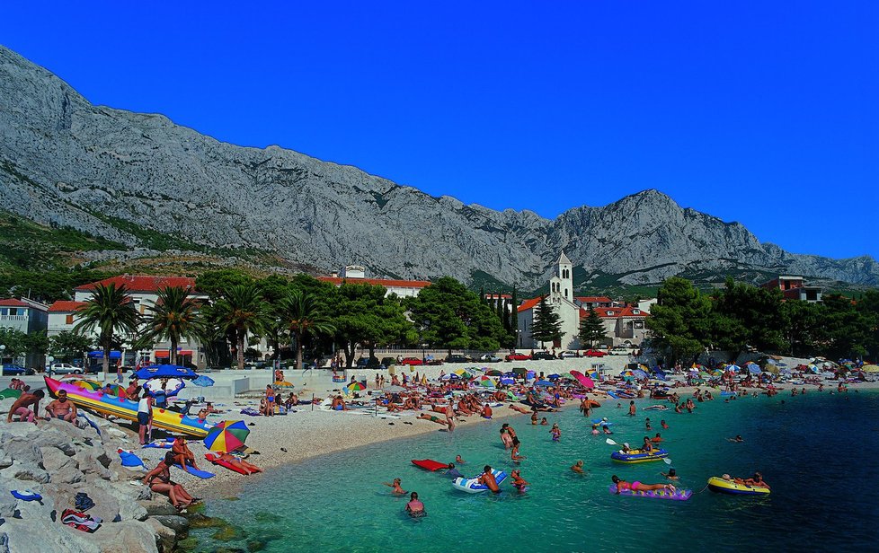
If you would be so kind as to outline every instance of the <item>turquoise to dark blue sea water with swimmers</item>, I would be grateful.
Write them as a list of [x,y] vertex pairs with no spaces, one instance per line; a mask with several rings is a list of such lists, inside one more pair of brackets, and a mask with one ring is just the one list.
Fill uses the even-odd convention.
[[[784,403],[782,403],[784,400]],[[639,400],[639,407],[656,402]],[[626,402],[624,402],[625,406]],[[614,447],[592,436],[576,408],[548,414],[548,426],[528,417],[503,419],[516,429],[523,478],[519,495],[505,482],[500,496],[467,495],[450,479],[412,465],[411,459],[453,461],[467,476],[491,464],[513,468],[502,448],[501,422],[468,422],[453,434],[368,446],[274,470],[248,486],[238,501],[212,502],[207,514],[235,524],[240,539],[211,540],[194,531],[200,551],[257,548],[264,551],[681,551],[872,549],[879,538],[879,394],[813,392],[805,397],[715,399],[694,414],[598,408],[616,424],[618,442],[640,443],[644,417],[661,432],[683,487],[698,492],[706,479],[724,472],[763,473],[767,497],[724,496],[703,491],[689,501],[666,501],[608,493],[610,476],[661,482],[661,461],[620,465]],[[670,429],[657,427],[665,418]],[[401,424],[397,421],[396,424]],[[391,430],[389,428],[389,430]],[[726,437],[741,434],[745,443]],[[332,439],[332,436],[328,436]],[[279,444],[290,447],[291,444]],[[569,469],[582,459],[588,473]],[[428,516],[404,514],[406,499],[381,485],[399,477],[417,491]]]

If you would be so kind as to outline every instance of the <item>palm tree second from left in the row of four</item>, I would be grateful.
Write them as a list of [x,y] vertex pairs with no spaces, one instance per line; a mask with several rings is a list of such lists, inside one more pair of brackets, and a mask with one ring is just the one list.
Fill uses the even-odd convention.
[[181,338],[198,334],[200,303],[181,286],[167,286],[158,292],[158,299],[149,308],[146,336],[171,342],[171,364],[177,364],[177,344]]

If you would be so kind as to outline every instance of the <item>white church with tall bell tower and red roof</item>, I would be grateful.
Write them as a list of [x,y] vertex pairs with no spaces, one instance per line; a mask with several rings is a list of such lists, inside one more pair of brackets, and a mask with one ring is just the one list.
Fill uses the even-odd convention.
[[555,349],[580,349],[580,318],[581,307],[573,296],[573,267],[571,260],[564,251],[555,261],[555,275],[549,279],[549,294],[546,303],[559,315],[562,323],[562,339],[555,344],[535,342],[531,338],[531,329],[537,317],[537,304],[540,297],[526,300],[519,305],[519,336],[517,347],[538,349],[541,347]]

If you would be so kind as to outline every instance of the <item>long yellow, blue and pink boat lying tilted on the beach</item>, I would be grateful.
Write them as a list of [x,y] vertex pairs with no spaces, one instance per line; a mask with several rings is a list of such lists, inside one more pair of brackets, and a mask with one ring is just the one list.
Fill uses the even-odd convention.
[[[44,376],[46,388],[53,396],[58,391],[67,391],[67,398],[73,401],[77,407],[91,409],[103,415],[112,415],[130,421],[138,420],[138,402],[130,399],[121,399],[116,394],[105,394],[102,391],[87,391],[69,382],[60,382]],[[153,426],[176,432],[203,438],[214,426],[213,423],[200,423],[192,417],[185,417],[182,413],[170,409],[153,408]]]

